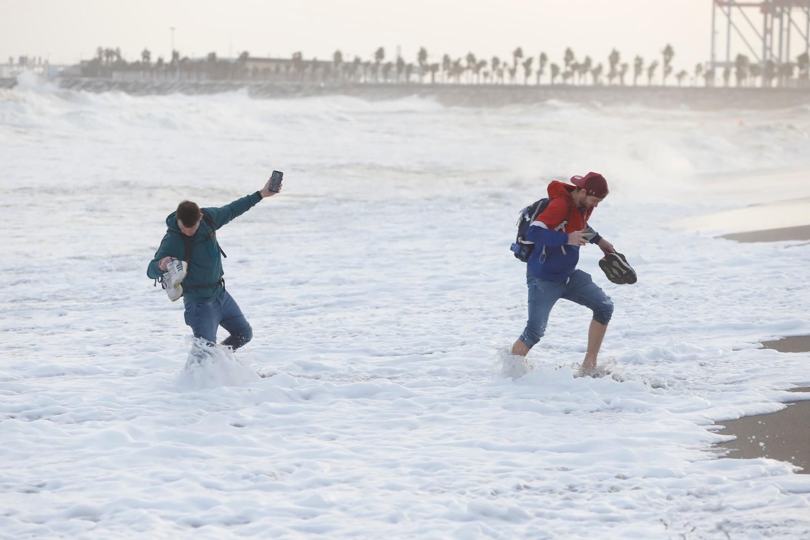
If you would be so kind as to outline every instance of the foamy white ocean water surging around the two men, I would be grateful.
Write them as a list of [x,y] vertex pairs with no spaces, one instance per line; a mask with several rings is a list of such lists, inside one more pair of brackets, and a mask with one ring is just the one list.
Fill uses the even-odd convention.
[[[810,476],[719,459],[709,428],[810,384],[808,354],[758,348],[810,332],[810,246],[671,225],[773,199],[808,135],[806,107],[0,91],[0,538],[808,538]],[[164,218],[273,169],[282,193],[218,231],[254,340],[187,364],[146,276]],[[639,275],[582,250],[621,381],[573,377],[569,302],[501,377],[518,211],[589,170]],[[701,189],[735,174],[762,195]]]

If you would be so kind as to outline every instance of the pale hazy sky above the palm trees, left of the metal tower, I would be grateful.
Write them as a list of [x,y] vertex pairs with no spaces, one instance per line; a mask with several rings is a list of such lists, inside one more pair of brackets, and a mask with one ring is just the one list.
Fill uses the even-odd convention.
[[[251,56],[330,59],[373,57],[386,49],[416,63],[420,46],[431,62],[443,54],[472,52],[489,60],[548,54],[562,63],[566,47],[578,59],[607,65],[613,47],[622,62],[640,54],[659,58],[675,49],[676,71],[690,73],[709,60],[711,0],[0,0],[0,62],[21,55],[51,63],[89,59],[99,45],[120,47],[134,60],[144,47],[152,60],[183,56]],[[745,52],[745,51],[740,51]],[[536,60],[535,60],[536,66]]]

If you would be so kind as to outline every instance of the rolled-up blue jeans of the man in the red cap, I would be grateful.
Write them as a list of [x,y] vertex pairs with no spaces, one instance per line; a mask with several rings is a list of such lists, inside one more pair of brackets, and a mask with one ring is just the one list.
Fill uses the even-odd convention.
[[546,333],[548,314],[560,298],[589,307],[596,322],[601,324],[608,324],[613,315],[613,301],[590,279],[590,274],[582,270],[574,270],[567,281],[546,281],[527,273],[526,282],[529,285],[529,319],[520,341],[529,349]]

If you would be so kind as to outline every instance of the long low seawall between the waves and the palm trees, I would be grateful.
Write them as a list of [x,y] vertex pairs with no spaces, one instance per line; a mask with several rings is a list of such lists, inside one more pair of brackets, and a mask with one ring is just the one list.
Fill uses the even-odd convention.
[[[4,81],[0,79],[0,86]],[[702,88],[660,86],[571,86],[520,84],[301,84],[253,81],[159,81],[59,78],[61,88],[83,92],[160,95],[215,94],[245,90],[249,96],[283,99],[309,96],[356,96],[369,101],[408,96],[443,105],[505,106],[558,100],[585,105],[639,105],[659,109],[786,109],[810,106],[810,88]],[[4,88],[11,88],[11,83]]]

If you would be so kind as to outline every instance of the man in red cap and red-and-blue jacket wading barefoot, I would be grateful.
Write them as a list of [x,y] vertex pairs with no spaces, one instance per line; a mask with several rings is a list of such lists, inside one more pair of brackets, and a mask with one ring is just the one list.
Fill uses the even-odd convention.
[[[588,348],[579,375],[596,370],[596,358],[613,314],[613,302],[599,289],[590,274],[578,270],[579,247],[588,242],[604,253],[615,251],[610,242],[592,230],[586,231],[588,218],[608,196],[608,182],[598,173],[548,184],[548,207],[535,218],[526,239],[535,242],[527,264],[529,318],[526,328],[512,346],[512,354],[525,357],[544,336],[548,315],[560,298],[577,302],[593,311],[588,331]],[[525,360],[521,358],[525,365]]]

